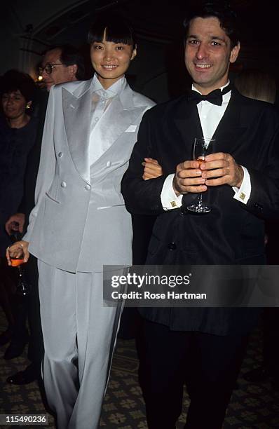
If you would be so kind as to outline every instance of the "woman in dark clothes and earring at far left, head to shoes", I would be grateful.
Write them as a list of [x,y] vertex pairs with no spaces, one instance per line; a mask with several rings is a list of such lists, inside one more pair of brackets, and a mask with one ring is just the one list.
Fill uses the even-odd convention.
[[[36,137],[36,118],[32,117],[32,100],[36,86],[28,74],[7,71],[0,81],[0,304],[4,308],[8,327],[0,334],[0,346],[10,341],[18,306],[13,297],[14,287],[4,259],[11,238],[5,222],[17,212],[22,199],[27,155]],[[16,228],[16,226],[15,226]],[[16,350],[8,348],[6,358],[20,355],[27,342],[27,331],[21,336]]]

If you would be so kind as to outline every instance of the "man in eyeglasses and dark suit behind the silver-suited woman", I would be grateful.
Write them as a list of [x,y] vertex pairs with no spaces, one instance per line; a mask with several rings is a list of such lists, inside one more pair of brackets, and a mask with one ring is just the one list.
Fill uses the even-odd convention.
[[[46,88],[49,91],[53,85],[58,83],[77,81],[83,79],[84,64],[83,57],[79,50],[70,45],[62,45],[47,50],[43,55],[41,62],[41,74],[43,81],[46,83]],[[44,95],[44,94],[43,94]],[[48,96],[44,96],[39,104],[39,128],[36,136],[34,147],[30,151],[27,159],[27,168],[25,172],[25,193],[19,207],[19,212],[11,216],[6,222],[6,231],[11,234],[14,228],[14,222],[18,222],[18,227],[22,233],[25,225],[25,219],[28,219],[29,214],[34,207],[34,193],[36,176],[39,168],[41,154],[41,139],[43,135],[43,124],[46,116],[46,105]],[[43,359],[43,337],[41,333],[41,319],[39,312],[39,294],[38,294],[38,271],[36,258],[32,257],[25,267],[28,281],[32,285],[32,293],[28,297],[28,311],[30,338],[28,357],[31,364],[20,372],[8,376],[7,382],[11,384],[27,384],[31,383],[40,376],[41,360]],[[16,322],[15,330],[19,333],[25,329],[26,313],[22,312],[21,317]],[[14,335],[15,337],[15,335]],[[16,337],[20,337],[19,334]],[[22,338],[24,336],[22,335]],[[13,357],[22,353],[22,347],[25,343],[19,342],[15,338],[12,339],[8,352]]]

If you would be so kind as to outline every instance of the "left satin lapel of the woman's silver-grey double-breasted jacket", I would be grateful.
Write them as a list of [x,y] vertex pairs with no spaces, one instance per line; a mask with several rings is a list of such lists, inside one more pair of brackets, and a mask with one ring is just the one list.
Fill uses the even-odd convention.
[[[88,86],[88,82],[85,84],[86,92],[82,93],[79,98],[66,88],[62,88],[62,103],[64,124],[72,160],[81,177],[90,184],[88,146],[92,97],[90,85]],[[81,88],[79,88],[80,92]]]

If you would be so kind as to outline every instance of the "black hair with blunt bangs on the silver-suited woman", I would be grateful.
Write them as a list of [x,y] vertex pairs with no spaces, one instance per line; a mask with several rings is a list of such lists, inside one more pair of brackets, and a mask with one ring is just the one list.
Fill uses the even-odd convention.
[[106,32],[106,41],[124,43],[135,48],[135,33],[130,23],[120,15],[102,13],[97,15],[88,33],[88,43],[101,43]]

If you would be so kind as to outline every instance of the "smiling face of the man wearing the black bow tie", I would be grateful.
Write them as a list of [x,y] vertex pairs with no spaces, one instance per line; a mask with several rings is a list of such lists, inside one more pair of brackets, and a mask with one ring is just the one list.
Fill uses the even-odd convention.
[[240,46],[231,49],[231,41],[217,18],[194,18],[189,25],[185,46],[185,64],[200,93],[226,85],[229,64],[235,62]]

